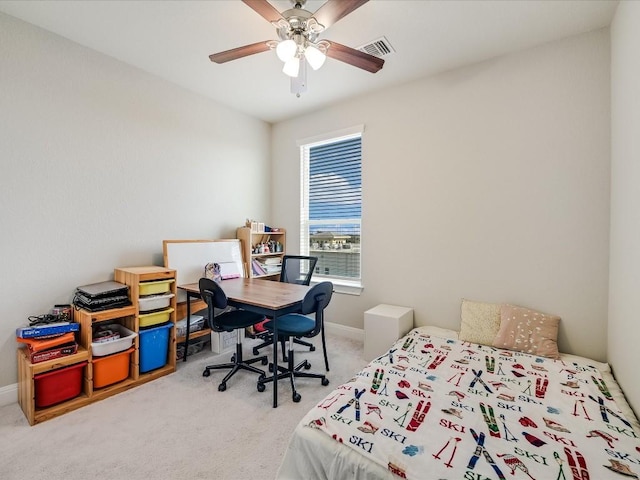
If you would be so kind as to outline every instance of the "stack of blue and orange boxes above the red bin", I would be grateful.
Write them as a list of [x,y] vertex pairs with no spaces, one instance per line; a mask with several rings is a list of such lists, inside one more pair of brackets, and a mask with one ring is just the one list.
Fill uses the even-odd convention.
[[16,340],[29,352],[31,363],[40,363],[76,353],[74,332],[79,330],[80,324],[73,322],[36,324],[17,328]]

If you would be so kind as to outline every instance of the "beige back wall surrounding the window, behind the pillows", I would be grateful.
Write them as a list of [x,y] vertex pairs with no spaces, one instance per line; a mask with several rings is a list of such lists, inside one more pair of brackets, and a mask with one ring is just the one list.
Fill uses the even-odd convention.
[[296,140],[365,124],[365,288],[328,321],[362,328],[390,303],[458,328],[463,297],[513,302],[560,315],[561,349],[604,360],[609,61],[605,29],[275,125],[273,220],[293,250]]

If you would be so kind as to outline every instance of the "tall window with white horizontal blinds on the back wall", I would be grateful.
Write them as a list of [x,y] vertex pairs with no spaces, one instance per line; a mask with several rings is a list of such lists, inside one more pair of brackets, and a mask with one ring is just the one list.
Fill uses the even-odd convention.
[[361,287],[362,128],[300,142],[300,252],[318,257],[314,281]]

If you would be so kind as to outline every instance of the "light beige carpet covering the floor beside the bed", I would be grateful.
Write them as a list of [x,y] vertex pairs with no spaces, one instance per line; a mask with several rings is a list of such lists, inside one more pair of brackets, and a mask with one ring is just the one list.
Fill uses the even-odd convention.
[[[324,370],[322,345],[315,352],[296,345],[296,362],[309,359]],[[257,340],[246,339],[251,355]],[[256,389],[256,375],[237,373],[225,392],[226,370],[205,378],[206,365],[227,362],[230,353],[210,351],[178,362],[175,373],[82,407],[33,427],[18,404],[0,408],[0,478],[3,480],[273,479],[296,424],[333,388],[367,363],[362,342],[327,334],[330,384],[299,379],[299,403],[288,381]],[[263,349],[271,358],[271,348]],[[257,364],[259,365],[259,364]],[[264,367],[266,369],[266,367]]]

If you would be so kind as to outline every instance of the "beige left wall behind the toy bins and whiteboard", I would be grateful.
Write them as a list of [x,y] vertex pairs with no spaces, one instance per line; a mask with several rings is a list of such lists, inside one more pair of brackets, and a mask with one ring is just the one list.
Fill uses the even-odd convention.
[[[270,212],[271,127],[0,14],[0,388],[15,329],[162,239]],[[266,181],[265,181],[266,179]]]

